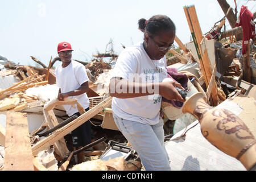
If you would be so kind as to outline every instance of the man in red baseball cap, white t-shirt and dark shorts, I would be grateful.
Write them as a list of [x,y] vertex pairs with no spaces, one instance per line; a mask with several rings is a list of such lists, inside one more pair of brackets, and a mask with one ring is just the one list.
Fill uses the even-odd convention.
[[[76,98],[77,101],[85,108],[85,111],[89,110],[89,98],[86,92],[89,89],[89,78],[86,73],[84,65],[72,60],[72,47],[68,42],[61,42],[58,44],[57,53],[59,54],[62,64],[55,69],[56,84],[59,86],[58,100],[64,101],[65,98]],[[72,115],[80,116],[77,106],[75,108],[72,105],[63,105],[69,117]],[[91,143],[91,131],[90,122],[87,121],[77,129],[71,132],[74,150],[77,150],[87,144]],[[84,152],[80,152],[78,155],[78,163],[84,161]]]

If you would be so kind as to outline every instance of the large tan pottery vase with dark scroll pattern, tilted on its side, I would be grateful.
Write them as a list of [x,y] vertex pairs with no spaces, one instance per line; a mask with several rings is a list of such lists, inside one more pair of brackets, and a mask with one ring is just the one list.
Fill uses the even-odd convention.
[[233,156],[247,170],[256,165],[256,140],[245,123],[227,109],[216,109],[206,102],[201,92],[184,102],[183,113],[196,117],[204,137],[222,152]]

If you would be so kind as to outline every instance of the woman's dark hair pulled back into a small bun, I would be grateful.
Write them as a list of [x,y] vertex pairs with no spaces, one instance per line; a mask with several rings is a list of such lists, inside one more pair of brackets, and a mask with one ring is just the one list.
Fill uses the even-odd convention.
[[149,20],[139,19],[139,30],[147,32],[150,36],[156,36],[166,31],[176,31],[174,22],[166,15],[155,15]]

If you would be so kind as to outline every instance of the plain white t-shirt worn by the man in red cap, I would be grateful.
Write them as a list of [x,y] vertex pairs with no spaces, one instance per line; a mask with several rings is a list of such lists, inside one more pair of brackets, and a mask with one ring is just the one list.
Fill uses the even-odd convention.
[[[63,68],[61,64],[55,69],[56,85],[59,86],[61,93],[70,92],[78,89],[84,82],[89,81],[84,65],[72,60],[71,63]],[[89,107],[89,98],[86,93],[79,96],[71,96],[69,98],[77,98],[77,101],[86,109]],[[78,112],[77,105],[63,105],[68,116]]]

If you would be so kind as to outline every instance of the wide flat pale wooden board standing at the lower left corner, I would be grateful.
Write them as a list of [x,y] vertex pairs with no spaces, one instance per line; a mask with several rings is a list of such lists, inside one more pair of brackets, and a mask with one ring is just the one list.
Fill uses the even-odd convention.
[[34,171],[26,113],[6,113],[5,146],[5,171]]

